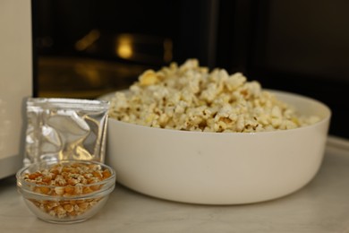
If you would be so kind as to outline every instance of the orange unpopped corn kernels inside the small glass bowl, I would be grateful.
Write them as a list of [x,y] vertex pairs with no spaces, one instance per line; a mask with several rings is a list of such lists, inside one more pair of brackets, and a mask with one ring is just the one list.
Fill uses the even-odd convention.
[[[109,169],[102,169],[97,164],[72,163],[55,164],[51,168],[38,170],[24,175],[24,180],[33,186],[33,192],[53,197],[74,197],[91,194],[100,190],[98,182],[111,177]],[[96,184],[96,185],[94,185]],[[88,211],[101,198],[71,199],[59,198],[57,201],[31,199],[39,209],[60,219],[74,217]],[[59,200],[59,201],[58,201]]]

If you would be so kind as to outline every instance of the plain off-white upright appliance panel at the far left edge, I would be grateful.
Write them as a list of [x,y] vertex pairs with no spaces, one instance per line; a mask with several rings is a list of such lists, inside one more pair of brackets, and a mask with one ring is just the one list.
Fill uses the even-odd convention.
[[0,178],[22,166],[25,100],[33,93],[31,1],[0,1]]

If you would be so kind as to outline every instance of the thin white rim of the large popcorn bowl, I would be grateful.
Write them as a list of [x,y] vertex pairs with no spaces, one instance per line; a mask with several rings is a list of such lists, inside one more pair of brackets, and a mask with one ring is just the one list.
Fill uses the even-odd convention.
[[[318,99],[314,99],[314,98],[311,98],[311,97],[306,96],[306,95],[302,95],[302,94],[294,93],[294,92],[289,92],[289,91],[280,91],[280,90],[273,90],[273,89],[263,89],[262,91],[269,91],[273,94],[288,95],[290,97],[301,98],[301,99],[304,99],[306,101],[313,102],[315,104],[318,104],[321,108],[325,109],[326,116],[321,117],[321,119],[318,122],[311,124],[311,125],[302,125],[300,127],[293,128],[293,129],[285,129],[285,130],[277,129],[277,130],[272,130],[272,131],[260,131],[260,132],[202,132],[202,131],[177,130],[177,129],[171,129],[171,128],[158,128],[158,127],[151,127],[151,126],[147,126],[147,125],[137,125],[134,123],[123,122],[123,121],[117,120],[111,116],[108,116],[108,121],[114,122],[117,124],[122,124],[122,125],[132,125],[132,127],[148,128],[151,130],[160,130],[163,132],[165,132],[165,131],[176,132],[175,134],[257,135],[257,134],[285,134],[285,132],[293,132],[293,131],[300,131],[300,130],[304,130],[304,129],[309,129],[312,127],[316,127],[317,125],[324,124],[325,122],[329,122],[331,117],[332,117],[331,108],[329,108],[327,104],[323,103],[322,101],[319,101]],[[113,91],[113,92],[107,93],[106,95],[101,96],[99,99],[103,99],[103,100],[110,99],[110,97],[112,95],[114,95],[115,92],[120,92],[120,91]],[[286,102],[286,104],[288,104],[288,103]]]

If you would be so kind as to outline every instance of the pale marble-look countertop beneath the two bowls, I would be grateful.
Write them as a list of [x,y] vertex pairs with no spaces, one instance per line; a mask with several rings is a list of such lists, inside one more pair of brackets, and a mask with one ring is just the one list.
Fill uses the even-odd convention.
[[8,177],[0,180],[0,232],[349,232],[349,141],[330,137],[318,175],[274,201],[193,205],[116,186],[98,215],[70,225],[38,220],[17,193],[15,178]]

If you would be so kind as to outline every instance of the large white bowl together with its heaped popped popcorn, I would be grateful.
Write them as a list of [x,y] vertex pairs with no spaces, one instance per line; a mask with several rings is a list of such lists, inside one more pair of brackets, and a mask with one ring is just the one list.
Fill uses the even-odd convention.
[[320,168],[331,116],[316,99],[196,59],[145,71],[102,99],[118,182],[183,203],[258,203],[301,189]]

